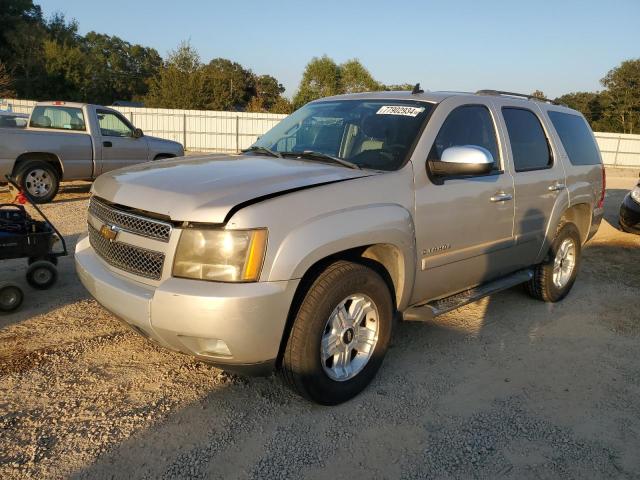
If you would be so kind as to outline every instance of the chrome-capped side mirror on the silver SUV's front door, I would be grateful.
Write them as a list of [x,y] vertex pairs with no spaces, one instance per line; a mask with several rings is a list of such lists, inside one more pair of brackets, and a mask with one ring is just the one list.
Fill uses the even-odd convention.
[[429,167],[436,176],[486,175],[493,163],[493,155],[486,148],[464,145],[445,149],[440,160],[429,160]]

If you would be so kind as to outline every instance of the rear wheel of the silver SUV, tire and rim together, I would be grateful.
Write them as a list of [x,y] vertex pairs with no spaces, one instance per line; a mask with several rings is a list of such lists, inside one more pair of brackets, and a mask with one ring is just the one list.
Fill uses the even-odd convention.
[[533,278],[526,289],[534,298],[545,302],[558,302],[573,287],[580,266],[580,233],[572,223],[558,227],[544,262],[536,265]]

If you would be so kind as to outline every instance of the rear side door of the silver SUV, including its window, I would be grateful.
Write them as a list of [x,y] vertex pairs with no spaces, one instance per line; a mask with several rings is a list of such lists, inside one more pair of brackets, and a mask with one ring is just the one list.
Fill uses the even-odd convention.
[[541,112],[535,105],[500,107],[515,180],[515,257],[518,266],[537,261],[565,173]]

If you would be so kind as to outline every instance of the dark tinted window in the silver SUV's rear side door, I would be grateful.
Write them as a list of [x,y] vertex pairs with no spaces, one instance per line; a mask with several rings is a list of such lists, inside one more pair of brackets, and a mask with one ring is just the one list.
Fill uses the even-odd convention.
[[553,157],[540,120],[531,110],[503,107],[516,172],[551,166]]

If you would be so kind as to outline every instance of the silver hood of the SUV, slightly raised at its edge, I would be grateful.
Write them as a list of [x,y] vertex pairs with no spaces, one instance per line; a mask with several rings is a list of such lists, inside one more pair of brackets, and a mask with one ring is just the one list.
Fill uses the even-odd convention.
[[175,221],[224,223],[227,214],[245,202],[376,174],[289,158],[208,155],[158,160],[105,173],[95,181],[93,193]]

